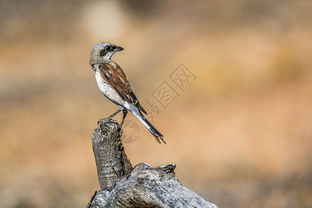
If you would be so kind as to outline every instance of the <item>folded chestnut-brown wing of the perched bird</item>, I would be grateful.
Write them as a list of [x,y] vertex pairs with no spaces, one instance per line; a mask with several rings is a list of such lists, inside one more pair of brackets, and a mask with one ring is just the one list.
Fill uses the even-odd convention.
[[123,98],[123,101],[137,106],[139,110],[146,114],[144,108],[139,104],[137,96],[132,92],[127,76],[125,76],[123,69],[118,64],[115,62],[103,62],[98,65],[98,71],[103,80],[116,89],[121,98]]

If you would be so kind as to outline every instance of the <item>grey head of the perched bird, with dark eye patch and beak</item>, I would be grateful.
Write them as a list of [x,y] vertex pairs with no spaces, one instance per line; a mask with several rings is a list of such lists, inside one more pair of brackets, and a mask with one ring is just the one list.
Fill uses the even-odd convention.
[[110,60],[114,53],[122,50],[122,47],[115,46],[109,42],[99,42],[95,44],[91,50],[89,64],[92,65],[105,60]]

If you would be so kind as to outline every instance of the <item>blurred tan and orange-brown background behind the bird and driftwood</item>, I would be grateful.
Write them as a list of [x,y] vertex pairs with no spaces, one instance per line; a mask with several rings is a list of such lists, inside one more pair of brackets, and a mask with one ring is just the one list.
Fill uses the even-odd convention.
[[[177,98],[125,144],[175,163],[219,207],[312,207],[312,1],[0,1],[0,207],[85,207],[99,189],[90,135],[118,107],[96,86],[97,42],[142,102]],[[184,64],[196,80],[179,89]],[[154,99],[154,100],[153,100]],[[135,121],[128,114],[128,121]],[[121,115],[116,116],[121,121]]]

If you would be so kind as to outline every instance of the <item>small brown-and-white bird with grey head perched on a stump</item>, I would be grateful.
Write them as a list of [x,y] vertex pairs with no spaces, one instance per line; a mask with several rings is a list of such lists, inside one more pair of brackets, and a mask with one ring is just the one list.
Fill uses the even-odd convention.
[[[90,53],[89,64],[94,71],[98,88],[112,103],[119,105],[119,110],[114,112],[111,116],[98,120],[98,129],[101,130],[100,123],[109,121],[122,111],[123,119],[119,127],[119,130],[121,130],[123,121],[125,121],[125,116],[127,116],[128,111],[130,111],[153,134],[155,140],[159,144],[162,142],[166,144],[162,133],[160,133],[144,116],[144,114],[147,114],[146,110],[140,105],[137,96],[135,96],[135,93],[132,91],[129,80],[123,72],[123,69],[121,69],[116,62],[111,60],[112,55],[119,51],[123,51],[121,46],[116,46],[110,42],[99,42],[94,45]],[[142,112],[144,114],[142,114]]]

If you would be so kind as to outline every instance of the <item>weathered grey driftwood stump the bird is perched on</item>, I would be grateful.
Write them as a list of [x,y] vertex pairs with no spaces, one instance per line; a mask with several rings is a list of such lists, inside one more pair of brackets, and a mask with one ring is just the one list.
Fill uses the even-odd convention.
[[87,208],[99,207],[217,207],[182,186],[175,177],[175,164],[134,168],[125,155],[119,124],[101,123],[92,133],[92,146],[101,191],[96,191]]

